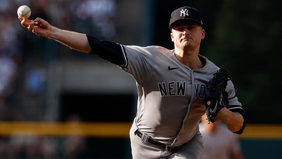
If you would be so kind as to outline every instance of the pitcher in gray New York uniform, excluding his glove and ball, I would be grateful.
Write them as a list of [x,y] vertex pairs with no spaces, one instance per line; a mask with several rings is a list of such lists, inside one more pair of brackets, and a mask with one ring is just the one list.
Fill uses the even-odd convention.
[[[58,29],[40,18],[20,20],[31,32],[96,54],[135,78],[139,98],[130,129],[133,158],[200,158],[203,144],[199,121],[206,112],[203,98],[207,82],[219,68],[199,55],[205,30],[197,9],[181,7],[172,12],[169,28],[173,50],[101,41]],[[231,81],[226,93],[229,106],[223,107],[215,120],[226,122],[230,131],[241,134],[244,113]]]

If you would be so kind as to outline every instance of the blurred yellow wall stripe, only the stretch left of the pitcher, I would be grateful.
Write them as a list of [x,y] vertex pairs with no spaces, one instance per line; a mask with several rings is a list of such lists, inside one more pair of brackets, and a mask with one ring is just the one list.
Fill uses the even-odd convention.
[[81,135],[128,138],[129,122],[0,122],[0,135]]

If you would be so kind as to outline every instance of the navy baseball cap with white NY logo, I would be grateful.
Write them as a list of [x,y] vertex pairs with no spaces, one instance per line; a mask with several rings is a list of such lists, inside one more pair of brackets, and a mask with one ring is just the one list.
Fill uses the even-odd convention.
[[171,17],[169,21],[170,30],[172,29],[173,24],[175,24],[175,22],[183,19],[196,21],[201,27],[203,27],[202,18],[200,16],[199,11],[195,8],[184,6],[174,10],[171,13]]

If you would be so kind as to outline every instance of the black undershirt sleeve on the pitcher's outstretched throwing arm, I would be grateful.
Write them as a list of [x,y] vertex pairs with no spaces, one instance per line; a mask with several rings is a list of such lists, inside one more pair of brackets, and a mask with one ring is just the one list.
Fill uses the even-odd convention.
[[115,42],[98,40],[86,35],[91,48],[90,54],[95,54],[121,67],[126,67],[125,50],[122,45]]

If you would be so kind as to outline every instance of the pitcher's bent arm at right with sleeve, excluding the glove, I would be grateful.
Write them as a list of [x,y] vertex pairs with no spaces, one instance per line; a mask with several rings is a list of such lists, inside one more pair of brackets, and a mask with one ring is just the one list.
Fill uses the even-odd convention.
[[229,106],[222,108],[215,117],[215,121],[224,121],[228,129],[236,134],[241,134],[246,126],[245,115],[241,103],[236,97],[233,83],[229,80],[226,87]]

